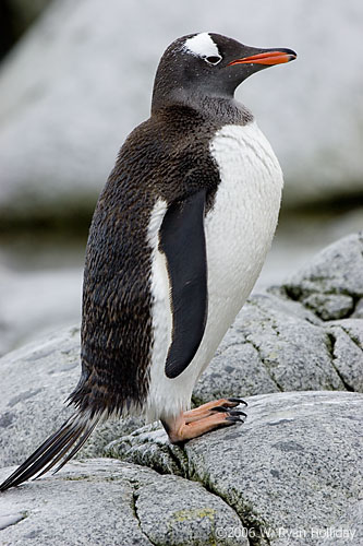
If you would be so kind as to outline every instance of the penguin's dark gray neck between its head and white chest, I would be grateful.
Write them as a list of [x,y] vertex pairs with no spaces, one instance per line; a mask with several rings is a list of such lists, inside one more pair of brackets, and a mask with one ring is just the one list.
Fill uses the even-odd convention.
[[158,97],[154,94],[152,115],[172,107],[186,107],[197,111],[199,116],[218,126],[239,124],[245,126],[252,121],[252,112],[233,96],[214,96],[201,93],[191,94],[183,87],[174,90],[168,96]]

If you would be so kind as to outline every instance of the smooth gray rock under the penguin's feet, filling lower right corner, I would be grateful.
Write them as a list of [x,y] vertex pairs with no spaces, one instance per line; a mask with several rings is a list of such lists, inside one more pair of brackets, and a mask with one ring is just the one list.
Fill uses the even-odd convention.
[[247,401],[244,425],[210,432],[183,449],[145,428],[122,438],[119,453],[118,442],[109,449],[159,472],[174,466],[197,479],[235,510],[254,544],[320,544],[327,529],[336,533],[334,544],[346,544],[339,542],[341,530],[354,533],[351,544],[361,544],[363,395],[274,393]]

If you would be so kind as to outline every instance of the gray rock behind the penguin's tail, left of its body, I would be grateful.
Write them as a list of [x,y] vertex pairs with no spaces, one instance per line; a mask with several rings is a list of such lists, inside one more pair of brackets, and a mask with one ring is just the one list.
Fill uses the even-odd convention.
[[[0,359],[0,466],[28,456],[73,413],[64,404],[80,373],[80,329],[47,335]],[[142,419],[100,425],[80,452],[97,456],[118,436],[143,425]]]

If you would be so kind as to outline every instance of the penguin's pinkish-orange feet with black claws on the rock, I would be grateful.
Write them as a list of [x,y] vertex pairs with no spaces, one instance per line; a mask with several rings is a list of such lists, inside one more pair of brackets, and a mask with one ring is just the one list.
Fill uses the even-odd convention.
[[244,423],[246,414],[233,410],[240,403],[245,404],[241,399],[215,400],[161,423],[171,443],[183,443],[216,428]]

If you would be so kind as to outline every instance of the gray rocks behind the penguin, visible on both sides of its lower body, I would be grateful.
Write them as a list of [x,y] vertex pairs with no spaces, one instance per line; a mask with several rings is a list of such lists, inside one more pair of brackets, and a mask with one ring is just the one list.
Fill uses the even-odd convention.
[[[324,321],[297,296],[307,289],[317,295],[343,290],[359,301],[362,239],[356,234],[337,241],[285,285],[253,296],[195,385],[194,403],[279,391],[363,392],[363,319],[356,307],[351,306],[346,318]],[[20,463],[70,416],[63,402],[80,377],[78,329],[62,330],[10,353],[0,359],[0,466],[4,466]],[[111,440],[142,425],[137,418],[108,422],[97,428],[81,455],[99,456]]]

